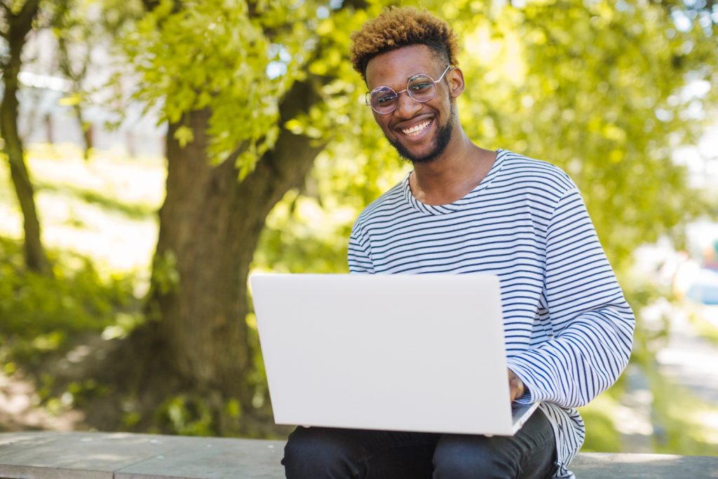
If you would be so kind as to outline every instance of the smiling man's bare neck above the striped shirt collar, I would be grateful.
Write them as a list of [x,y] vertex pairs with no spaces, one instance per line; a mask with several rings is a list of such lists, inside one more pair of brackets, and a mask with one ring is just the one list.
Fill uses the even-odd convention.
[[459,129],[441,157],[414,164],[409,186],[426,205],[448,205],[465,197],[493,166],[496,152],[477,147]]

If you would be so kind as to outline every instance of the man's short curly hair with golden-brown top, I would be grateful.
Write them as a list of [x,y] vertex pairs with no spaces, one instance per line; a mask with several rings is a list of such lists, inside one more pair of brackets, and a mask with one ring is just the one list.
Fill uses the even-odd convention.
[[458,65],[456,35],[449,24],[411,6],[384,9],[351,37],[354,70],[366,80],[366,65],[377,55],[409,45],[426,45],[449,65]]

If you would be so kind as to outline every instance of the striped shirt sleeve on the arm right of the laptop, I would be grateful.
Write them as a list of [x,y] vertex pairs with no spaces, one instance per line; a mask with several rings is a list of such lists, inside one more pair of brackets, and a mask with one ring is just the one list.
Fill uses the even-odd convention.
[[508,358],[508,367],[528,388],[521,402],[583,406],[628,364],[635,318],[575,187],[546,231],[543,296],[553,338]]

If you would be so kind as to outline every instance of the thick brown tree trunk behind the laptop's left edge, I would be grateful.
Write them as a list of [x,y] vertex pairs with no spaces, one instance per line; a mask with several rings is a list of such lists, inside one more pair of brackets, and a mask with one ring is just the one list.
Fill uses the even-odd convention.
[[[296,83],[280,107],[281,124],[307,111],[314,90]],[[201,398],[213,411],[213,432],[251,433],[228,426],[228,401],[251,412],[254,371],[247,276],[266,215],[298,187],[323,145],[282,130],[276,147],[242,182],[233,159],[213,166],[206,154],[211,111],[193,111],[182,124],[194,140],[181,147],[167,134],[167,197],[159,212],[159,240],[147,304],[148,322],[130,338],[149,350],[138,391],[151,391],[143,409],[167,397]],[[138,343],[139,342],[139,343]]]

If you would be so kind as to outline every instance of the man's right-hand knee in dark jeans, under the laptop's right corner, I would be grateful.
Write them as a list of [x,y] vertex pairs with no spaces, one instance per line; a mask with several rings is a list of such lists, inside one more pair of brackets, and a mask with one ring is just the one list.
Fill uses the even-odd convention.
[[434,450],[434,479],[515,478],[516,465],[489,437],[444,436]]

